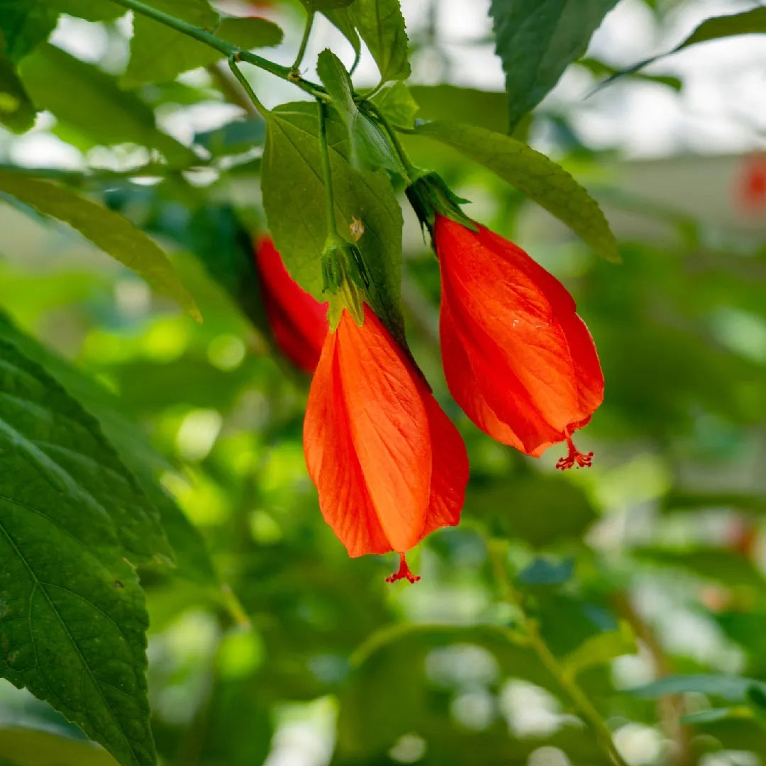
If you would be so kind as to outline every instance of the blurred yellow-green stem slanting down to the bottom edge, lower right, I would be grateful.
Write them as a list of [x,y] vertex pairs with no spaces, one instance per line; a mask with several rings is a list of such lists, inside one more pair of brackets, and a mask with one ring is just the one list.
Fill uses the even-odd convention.
[[571,674],[566,673],[564,667],[556,659],[548,644],[545,643],[542,633],[540,633],[537,620],[529,617],[529,614],[526,613],[522,594],[512,586],[506,573],[507,542],[505,540],[490,540],[488,545],[497,584],[505,600],[519,611],[521,624],[529,647],[538,656],[538,660],[548,670],[548,673],[557,680],[561,689],[568,694],[569,699],[575,704],[575,708],[578,709],[584,721],[593,729],[601,748],[614,766],[627,766],[624,758],[614,745],[611,732],[606,723],[604,723],[604,719],[601,718],[601,713],[597,711],[593,702],[588,699],[588,695],[581,689],[577,680]]

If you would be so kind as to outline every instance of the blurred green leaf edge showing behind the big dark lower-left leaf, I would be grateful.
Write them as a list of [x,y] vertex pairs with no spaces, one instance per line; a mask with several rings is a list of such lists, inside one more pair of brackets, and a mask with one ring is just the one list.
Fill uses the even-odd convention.
[[175,554],[175,571],[179,576],[199,584],[214,585],[217,578],[205,542],[157,481],[158,473],[172,466],[149,444],[136,418],[124,411],[119,399],[110,391],[21,332],[2,313],[0,338],[13,343],[33,362],[41,365],[83,408],[97,417],[101,430],[159,512],[162,529]]

